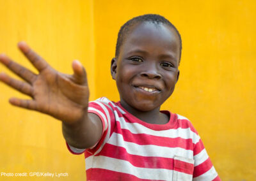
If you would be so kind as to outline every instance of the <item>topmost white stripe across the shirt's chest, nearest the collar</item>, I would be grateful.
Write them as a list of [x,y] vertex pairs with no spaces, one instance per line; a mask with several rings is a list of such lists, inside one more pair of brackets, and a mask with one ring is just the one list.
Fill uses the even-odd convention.
[[[115,112],[115,115],[118,115]],[[191,131],[191,129],[188,127],[186,129],[183,129],[179,127],[178,129],[168,129],[168,130],[162,130],[162,131],[155,131],[153,129],[149,129],[148,127],[145,127],[139,123],[131,123],[131,122],[125,122],[124,117],[118,117],[116,116],[116,121],[120,122],[120,126],[122,129],[128,129],[133,134],[149,134],[152,136],[161,136],[166,138],[184,138],[184,139],[192,139],[193,143],[196,144],[200,140],[200,136],[198,136],[196,133]]]

